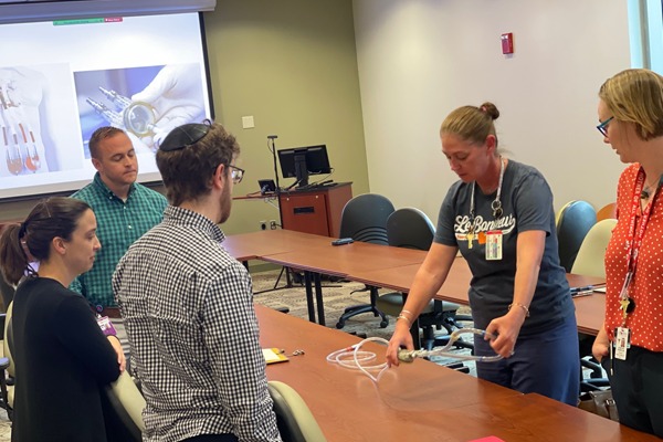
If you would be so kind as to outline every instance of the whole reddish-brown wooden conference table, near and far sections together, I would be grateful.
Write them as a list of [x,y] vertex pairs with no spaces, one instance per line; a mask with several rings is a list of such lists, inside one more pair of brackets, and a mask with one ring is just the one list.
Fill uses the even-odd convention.
[[[375,244],[332,246],[330,239],[298,232],[267,231],[228,236],[224,246],[240,261],[263,260],[302,270],[346,277],[407,293],[425,252]],[[567,275],[571,286],[600,285],[600,278]],[[467,304],[471,273],[456,259],[435,298]],[[311,292],[307,278],[307,292]],[[318,315],[323,302],[316,280]],[[308,296],[309,303],[313,297]],[[575,299],[578,328],[596,334],[602,323],[604,296]],[[593,309],[593,312],[591,312]],[[388,370],[376,385],[357,370],[328,362],[327,355],[360,339],[313,320],[255,306],[263,348],[302,356],[270,365],[270,380],[293,387],[306,401],[330,441],[467,442],[494,435],[506,442],[532,441],[659,441],[598,415],[538,394],[520,394],[448,367],[418,359]],[[311,318],[309,308],[309,318]],[[319,315],[324,318],[324,316]],[[366,350],[383,360],[385,347],[368,343]]]

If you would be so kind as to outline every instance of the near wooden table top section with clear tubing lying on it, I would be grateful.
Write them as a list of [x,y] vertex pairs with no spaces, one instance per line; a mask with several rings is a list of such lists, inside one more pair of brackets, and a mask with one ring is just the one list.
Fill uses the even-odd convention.
[[[267,378],[290,385],[304,398],[329,442],[424,440],[412,438],[413,430],[439,440],[449,422],[444,410],[522,396],[423,359],[387,371],[375,385],[357,370],[326,361],[327,355],[359,338],[260,305],[255,313],[263,348],[305,351],[267,366]],[[386,347],[369,343],[362,348],[385,360]]]

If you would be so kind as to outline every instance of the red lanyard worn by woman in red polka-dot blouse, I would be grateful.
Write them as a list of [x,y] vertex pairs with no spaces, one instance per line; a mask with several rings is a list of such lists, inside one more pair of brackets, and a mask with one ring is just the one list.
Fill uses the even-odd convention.
[[627,260],[628,260],[627,277],[624,280],[624,288],[622,290],[622,293],[620,295],[620,298],[622,301],[627,299],[629,297],[627,288],[629,287],[629,284],[631,283],[631,278],[635,274],[635,269],[638,267],[638,257],[639,257],[638,255],[640,252],[640,245],[642,245],[642,239],[644,238],[644,231],[646,230],[646,224],[649,222],[650,214],[652,213],[654,200],[656,199],[656,194],[659,193],[659,188],[663,183],[663,175],[662,175],[661,179],[659,180],[659,186],[656,187],[656,190],[653,192],[649,204],[646,204],[646,208],[644,209],[644,212],[642,212],[642,220],[640,221],[640,225],[638,227],[638,230],[636,230],[635,229],[635,215],[638,213],[638,207],[640,206],[640,198],[642,194],[642,189],[644,188],[644,178],[645,178],[644,169],[642,169],[642,167],[641,167],[640,170],[638,170],[638,178],[635,179],[635,188],[633,189],[633,198],[631,200],[631,202],[632,202],[631,218],[629,221],[629,239],[628,239],[628,246],[627,246]]

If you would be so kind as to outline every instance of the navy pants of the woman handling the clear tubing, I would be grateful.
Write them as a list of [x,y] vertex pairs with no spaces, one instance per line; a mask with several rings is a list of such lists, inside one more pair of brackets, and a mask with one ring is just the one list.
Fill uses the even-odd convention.
[[[490,340],[474,337],[477,356],[494,356]],[[522,393],[539,393],[578,406],[580,391],[580,351],[576,316],[558,327],[532,335],[518,336],[514,354],[496,362],[476,362],[480,379],[511,388]]]

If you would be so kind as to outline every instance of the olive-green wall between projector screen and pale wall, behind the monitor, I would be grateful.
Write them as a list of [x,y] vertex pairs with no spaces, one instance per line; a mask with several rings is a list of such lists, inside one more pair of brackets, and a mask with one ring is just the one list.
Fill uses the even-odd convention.
[[[238,137],[246,169],[234,196],[274,177],[266,147],[273,134],[277,149],[326,144],[332,178],[367,192],[351,0],[219,0],[204,22],[215,116]],[[254,129],[242,129],[248,115]],[[25,217],[34,203],[0,204],[0,219]],[[261,220],[278,220],[278,211],[261,200],[234,201],[224,231],[256,231]]]

